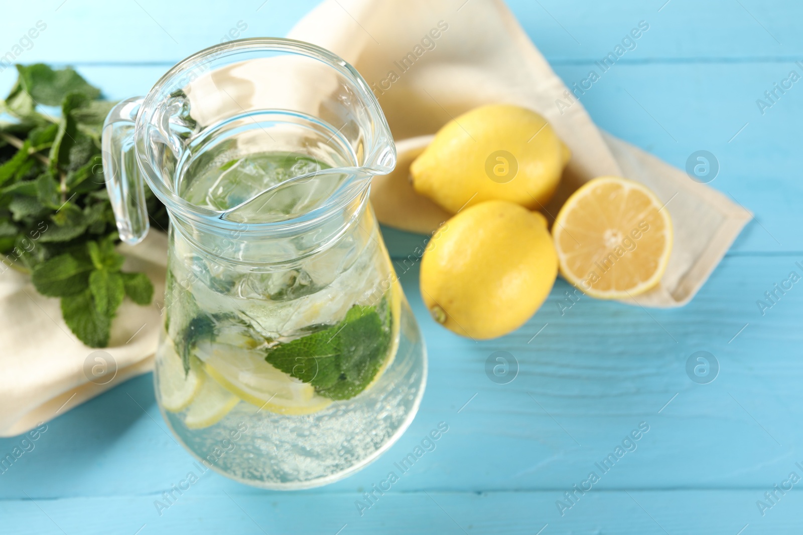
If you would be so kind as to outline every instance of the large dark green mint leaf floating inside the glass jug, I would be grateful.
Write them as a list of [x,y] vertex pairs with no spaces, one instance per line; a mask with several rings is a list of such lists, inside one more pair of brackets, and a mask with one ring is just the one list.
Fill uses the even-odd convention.
[[350,399],[371,383],[390,346],[389,307],[352,306],[340,323],[267,350],[279,370],[310,383],[320,395]]

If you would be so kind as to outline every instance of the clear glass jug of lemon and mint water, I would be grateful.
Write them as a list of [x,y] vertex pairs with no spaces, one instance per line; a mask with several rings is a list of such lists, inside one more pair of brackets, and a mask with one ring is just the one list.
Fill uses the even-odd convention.
[[169,213],[154,381],[206,468],[263,488],[328,484],[410,424],[426,351],[369,205],[396,164],[385,116],[343,59],[288,39],[190,56],[103,132],[122,240]]

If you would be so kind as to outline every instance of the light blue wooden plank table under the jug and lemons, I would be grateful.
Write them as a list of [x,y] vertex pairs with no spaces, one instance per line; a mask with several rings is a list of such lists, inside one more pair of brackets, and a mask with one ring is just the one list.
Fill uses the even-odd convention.
[[[756,214],[691,304],[647,313],[581,298],[561,312],[569,286],[559,280],[526,326],[475,343],[428,317],[413,270],[403,284],[428,342],[429,384],[410,430],[369,468],[304,492],[210,473],[160,517],[153,501],[193,460],[167,436],[146,375],[48,424],[0,476],[0,533],[803,533],[803,481],[764,498],[790,472],[803,477],[803,285],[765,314],[756,306],[803,262],[803,81],[763,114],[756,105],[789,71],[803,73],[803,6],[665,2],[510,4],[568,83],[649,22],[585,106],[601,128],[678,167],[697,150],[714,153],[711,185]],[[238,21],[245,37],[283,35],[315,1],[184,3],[7,2],[0,53],[42,20],[47,30],[19,61],[70,63],[119,99],[145,93]],[[3,72],[0,85],[12,78]],[[402,256],[422,241],[385,237]],[[494,351],[518,359],[512,383],[485,375]],[[718,360],[713,382],[687,376],[695,351]],[[363,489],[441,421],[449,432],[437,449],[357,513]],[[561,516],[556,501],[601,474],[595,463],[641,422],[649,432],[638,448]],[[0,440],[0,452],[17,443]],[[763,516],[760,500],[772,504]]]

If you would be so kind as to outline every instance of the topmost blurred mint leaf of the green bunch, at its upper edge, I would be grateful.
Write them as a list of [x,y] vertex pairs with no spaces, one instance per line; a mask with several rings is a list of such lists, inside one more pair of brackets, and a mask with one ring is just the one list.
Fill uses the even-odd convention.
[[[45,106],[58,106],[67,93],[77,92],[84,98],[94,100],[100,96],[100,90],[92,87],[81,75],[72,70],[55,70],[44,63],[34,65],[18,65],[19,73],[16,91],[24,91],[35,103]],[[14,91],[12,91],[13,96]]]

